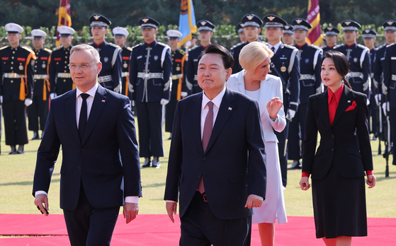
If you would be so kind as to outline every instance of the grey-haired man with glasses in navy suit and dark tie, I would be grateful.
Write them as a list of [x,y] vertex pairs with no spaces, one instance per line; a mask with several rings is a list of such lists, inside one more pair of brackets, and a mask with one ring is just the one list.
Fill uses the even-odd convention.
[[70,243],[110,245],[120,206],[126,223],[139,211],[135,123],[129,99],[98,86],[102,64],[96,49],[77,45],[70,53],[77,88],[51,102],[35,167],[35,205],[48,215],[47,192],[62,145],[60,207]]

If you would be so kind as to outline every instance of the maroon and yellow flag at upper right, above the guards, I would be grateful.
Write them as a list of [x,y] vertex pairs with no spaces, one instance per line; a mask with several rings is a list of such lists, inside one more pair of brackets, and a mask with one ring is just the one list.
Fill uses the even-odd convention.
[[310,45],[320,46],[323,42],[320,26],[319,0],[308,0],[307,21],[312,25],[308,32],[307,42]]

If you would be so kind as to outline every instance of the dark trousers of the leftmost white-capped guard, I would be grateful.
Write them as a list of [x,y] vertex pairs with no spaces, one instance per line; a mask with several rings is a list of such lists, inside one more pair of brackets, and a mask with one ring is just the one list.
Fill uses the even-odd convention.
[[25,109],[25,102],[21,100],[5,100],[3,102],[6,145],[16,146],[29,143]]

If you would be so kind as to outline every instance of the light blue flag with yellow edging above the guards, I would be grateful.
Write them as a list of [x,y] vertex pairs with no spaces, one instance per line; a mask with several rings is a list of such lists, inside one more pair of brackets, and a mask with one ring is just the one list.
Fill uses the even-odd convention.
[[190,41],[193,37],[191,33],[196,33],[197,31],[193,0],[181,0],[179,31],[182,34],[179,47]]

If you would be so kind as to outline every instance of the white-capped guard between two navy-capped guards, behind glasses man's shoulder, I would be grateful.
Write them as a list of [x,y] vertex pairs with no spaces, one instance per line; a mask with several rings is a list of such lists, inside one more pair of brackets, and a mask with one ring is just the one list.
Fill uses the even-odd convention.
[[121,47],[121,58],[123,59],[123,72],[121,73],[123,83],[121,86],[121,94],[132,99],[132,89],[129,84],[129,58],[132,48],[125,46],[129,32],[125,28],[113,28],[113,35],[115,45]]

